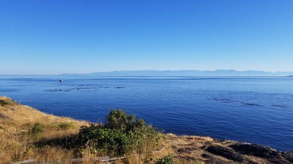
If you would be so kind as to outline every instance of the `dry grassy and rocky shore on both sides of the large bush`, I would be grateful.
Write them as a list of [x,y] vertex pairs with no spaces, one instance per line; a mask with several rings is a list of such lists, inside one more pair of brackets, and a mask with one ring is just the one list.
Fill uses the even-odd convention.
[[[3,100],[0,101],[0,152],[2,152],[0,161],[7,163],[32,158],[37,161],[54,161],[77,157],[70,148],[56,145],[44,148],[36,142],[67,138],[76,134],[81,126],[86,126],[89,122],[45,114],[29,106],[20,105],[7,97],[0,97],[0,100]],[[31,136],[28,134],[29,129],[37,122],[42,123],[45,130],[39,136]],[[170,133],[164,136],[161,144],[167,148],[153,158],[159,158],[171,152],[178,164],[182,161],[187,161],[187,164],[194,161],[200,162],[199,164],[293,163],[293,151],[280,152],[268,146],[216,140],[205,136],[177,136]],[[52,156],[50,152],[55,156]]]

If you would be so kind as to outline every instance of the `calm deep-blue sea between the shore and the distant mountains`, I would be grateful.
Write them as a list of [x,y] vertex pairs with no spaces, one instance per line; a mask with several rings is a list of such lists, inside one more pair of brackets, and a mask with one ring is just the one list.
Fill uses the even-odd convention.
[[288,77],[0,76],[0,95],[59,116],[103,122],[124,109],[166,132],[293,150]]

